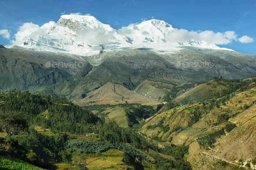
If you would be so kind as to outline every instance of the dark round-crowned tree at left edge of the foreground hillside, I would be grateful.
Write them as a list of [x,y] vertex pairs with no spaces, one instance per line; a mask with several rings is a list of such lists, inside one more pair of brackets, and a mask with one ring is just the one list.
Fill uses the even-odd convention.
[[10,111],[0,111],[0,126],[10,138],[29,127],[24,115]]

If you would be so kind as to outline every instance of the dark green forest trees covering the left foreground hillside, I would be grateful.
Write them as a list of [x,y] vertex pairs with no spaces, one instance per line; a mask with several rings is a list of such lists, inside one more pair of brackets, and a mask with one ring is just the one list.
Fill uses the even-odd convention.
[[[2,126],[9,121],[9,128],[14,129],[20,124],[19,121],[23,123],[19,132],[0,138],[0,143],[13,150],[19,150],[19,159],[38,167],[53,170],[56,168],[54,164],[61,162],[73,166],[73,154],[101,154],[114,148],[123,151],[129,159],[145,160],[155,164],[159,169],[167,170],[167,167],[170,167],[191,170],[190,163],[184,159],[184,155],[188,154],[187,146],[166,145],[164,149],[158,148],[157,143],[149,141],[135,129],[120,127],[115,121],[106,120],[104,116],[98,117],[90,110],[77,106],[65,98],[14,89],[1,92],[0,101],[0,115],[4,118],[0,121]],[[159,105],[157,109],[149,112],[147,106],[130,106],[131,110],[135,111],[135,117],[146,112],[147,115],[152,115],[161,107],[162,105]],[[37,132],[35,126],[49,128],[52,135]],[[3,128],[0,131],[6,132]],[[72,134],[88,133],[95,134],[99,140],[69,141]],[[156,161],[152,162],[141,152],[149,150],[152,151],[151,157]],[[165,159],[158,153],[173,156],[175,161]],[[157,159],[165,160],[165,163]],[[78,164],[76,166],[80,168]]]

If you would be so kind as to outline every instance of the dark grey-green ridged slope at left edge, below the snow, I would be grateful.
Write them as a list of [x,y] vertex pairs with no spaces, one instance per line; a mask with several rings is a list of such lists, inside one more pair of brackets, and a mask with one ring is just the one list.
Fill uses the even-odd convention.
[[46,68],[48,62],[0,45],[0,88],[27,90],[34,87],[64,83],[71,75],[59,68]]

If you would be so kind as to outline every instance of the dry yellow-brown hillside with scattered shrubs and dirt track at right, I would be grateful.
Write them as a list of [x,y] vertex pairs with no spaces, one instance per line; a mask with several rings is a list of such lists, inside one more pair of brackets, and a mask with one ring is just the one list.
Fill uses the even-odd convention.
[[181,105],[168,103],[146,120],[140,132],[171,144],[188,145],[193,169],[256,169],[255,82],[255,78],[219,78],[199,85],[187,91],[184,99],[193,99],[200,90],[215,93],[217,98]]

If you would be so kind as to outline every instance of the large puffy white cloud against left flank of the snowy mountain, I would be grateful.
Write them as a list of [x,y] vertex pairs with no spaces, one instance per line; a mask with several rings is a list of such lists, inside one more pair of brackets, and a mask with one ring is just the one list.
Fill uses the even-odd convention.
[[12,40],[11,45],[8,47],[12,47],[13,45],[21,45],[23,42],[26,41],[27,38],[32,38],[33,40],[36,40],[39,35],[46,35],[47,29],[53,27],[55,24],[56,23],[54,21],[50,21],[39,27],[32,22],[26,22],[19,27],[18,32],[14,35],[15,40]]

